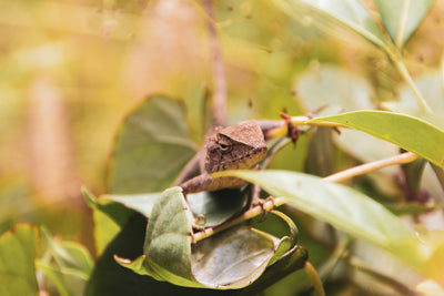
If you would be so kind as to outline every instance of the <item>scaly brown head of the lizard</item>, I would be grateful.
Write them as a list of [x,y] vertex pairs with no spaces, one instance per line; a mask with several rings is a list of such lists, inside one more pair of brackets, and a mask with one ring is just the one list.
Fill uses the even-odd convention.
[[216,127],[205,141],[205,171],[252,169],[266,155],[261,127],[244,122],[229,127]]

